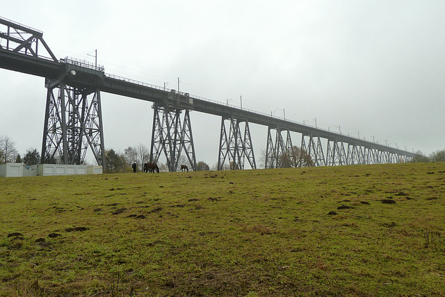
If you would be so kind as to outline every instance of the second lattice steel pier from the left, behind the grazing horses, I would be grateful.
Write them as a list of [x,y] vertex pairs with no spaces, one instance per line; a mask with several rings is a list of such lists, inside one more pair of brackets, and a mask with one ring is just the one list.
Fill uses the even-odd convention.
[[[196,170],[195,147],[193,145],[190,110],[178,106],[153,104],[153,130],[150,162],[156,163],[164,153],[167,159],[168,170],[178,171],[181,153],[186,154],[188,164]],[[184,111],[184,118],[181,114]]]

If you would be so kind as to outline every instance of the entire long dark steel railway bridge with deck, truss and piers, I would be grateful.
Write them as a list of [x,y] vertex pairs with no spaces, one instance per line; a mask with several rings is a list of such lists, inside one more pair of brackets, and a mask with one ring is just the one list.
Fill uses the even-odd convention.
[[[186,155],[191,168],[196,170],[190,111],[221,118],[218,170],[222,170],[226,162],[232,169],[243,169],[245,160],[250,168],[257,168],[250,123],[268,127],[266,168],[284,166],[281,156],[293,147],[291,132],[301,134],[301,151],[310,156],[314,166],[400,163],[410,161],[415,155],[387,145],[106,74],[104,67],[85,61],[58,60],[42,36],[42,31],[0,18],[0,67],[45,78],[47,100],[42,163],[52,162],[60,156],[65,164],[80,164],[89,147],[97,163],[106,166],[101,92],[152,102],[154,117],[150,158],[156,162],[164,154],[170,171],[177,171],[181,166],[181,154]],[[304,166],[301,154],[294,159],[293,166]]]

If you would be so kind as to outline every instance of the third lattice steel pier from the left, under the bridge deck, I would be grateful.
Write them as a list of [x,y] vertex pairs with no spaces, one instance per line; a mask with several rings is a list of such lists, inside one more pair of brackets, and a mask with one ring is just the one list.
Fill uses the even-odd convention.
[[[229,120],[229,133],[225,121]],[[244,123],[244,133],[241,134]],[[228,159],[231,170],[244,169],[245,159],[248,159],[250,168],[257,169],[255,162],[252,138],[250,137],[249,122],[247,119],[232,117],[221,118],[220,147],[218,152],[218,170],[224,169],[224,163]]]

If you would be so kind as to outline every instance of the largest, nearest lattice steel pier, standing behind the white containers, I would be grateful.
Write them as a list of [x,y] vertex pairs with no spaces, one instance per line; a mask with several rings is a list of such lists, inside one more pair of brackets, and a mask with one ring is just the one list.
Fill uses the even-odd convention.
[[68,86],[63,79],[47,81],[46,87],[42,163],[82,164],[90,147],[105,168],[99,89]]

